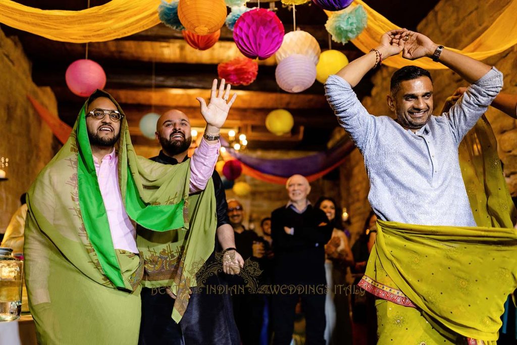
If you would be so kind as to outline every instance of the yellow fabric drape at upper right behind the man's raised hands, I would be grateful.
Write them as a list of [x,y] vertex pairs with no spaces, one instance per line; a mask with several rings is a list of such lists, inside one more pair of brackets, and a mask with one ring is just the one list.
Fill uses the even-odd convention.
[[[391,23],[361,0],[354,0],[351,6],[357,5],[362,5],[366,10],[368,14],[368,24],[364,31],[357,36],[357,38],[352,40],[352,43],[362,52],[368,53],[370,49],[378,46],[379,40],[384,33],[392,29],[398,29],[400,26]],[[328,16],[334,13],[329,11],[325,12]],[[515,13],[517,13],[517,0],[513,0],[488,29],[464,49],[459,50],[448,47],[447,49],[465,54],[477,60],[483,60],[507,50],[517,44],[517,20],[515,20]],[[395,68],[408,65],[415,65],[425,69],[447,68],[442,64],[433,62],[427,57],[410,61],[400,55],[386,59],[386,61],[383,61],[383,64]]]

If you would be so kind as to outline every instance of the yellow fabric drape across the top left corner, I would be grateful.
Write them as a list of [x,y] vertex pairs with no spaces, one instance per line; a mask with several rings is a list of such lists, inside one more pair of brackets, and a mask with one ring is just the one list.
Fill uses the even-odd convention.
[[41,10],[0,0],[0,23],[55,41],[102,42],[160,23],[160,0],[112,0],[81,11]]

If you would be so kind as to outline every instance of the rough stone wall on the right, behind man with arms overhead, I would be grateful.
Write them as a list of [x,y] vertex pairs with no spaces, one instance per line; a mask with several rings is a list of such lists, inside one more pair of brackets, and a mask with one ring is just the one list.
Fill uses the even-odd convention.
[[[433,41],[447,47],[462,49],[488,28],[511,0],[462,1],[442,0],[419,24],[418,31]],[[501,38],[503,39],[503,38]],[[517,47],[488,58],[485,63],[497,67],[505,74],[503,92],[517,94]],[[362,100],[371,114],[390,115],[386,103],[389,83],[394,68],[386,66],[373,76],[372,94]],[[438,113],[445,99],[460,86],[467,86],[458,74],[443,70],[431,71],[434,84],[434,108]],[[490,108],[487,116],[496,133],[499,156],[512,196],[517,196],[517,127],[516,120]],[[338,129],[334,137],[343,136]],[[336,140],[336,138],[334,138]],[[354,238],[362,231],[364,220],[370,212],[369,183],[361,154],[356,149],[341,167],[342,203],[349,209]]]

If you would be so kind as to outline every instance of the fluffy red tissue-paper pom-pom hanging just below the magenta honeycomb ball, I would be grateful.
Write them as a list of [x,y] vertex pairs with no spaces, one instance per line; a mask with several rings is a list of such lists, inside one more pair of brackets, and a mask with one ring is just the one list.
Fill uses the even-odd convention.
[[258,64],[247,57],[236,57],[233,60],[217,65],[219,79],[233,85],[249,85],[258,74]]

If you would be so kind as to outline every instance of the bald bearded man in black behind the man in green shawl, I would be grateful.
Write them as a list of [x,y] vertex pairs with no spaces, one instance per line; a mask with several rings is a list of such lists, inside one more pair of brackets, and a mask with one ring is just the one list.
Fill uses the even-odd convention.
[[[151,160],[175,165],[189,159],[192,137],[187,114],[176,109],[165,112],[158,119],[155,135],[162,149]],[[226,194],[216,171],[212,174],[212,181],[216,197],[217,241],[206,265],[213,265],[216,262],[215,253],[222,250],[223,272],[236,274],[244,266],[244,260],[235,249],[234,231],[226,212]],[[198,277],[198,283],[200,279]],[[221,274],[215,274],[203,283],[205,286],[219,286],[225,285],[226,280]],[[141,345],[240,344],[229,295],[206,294],[206,289],[194,291],[179,324],[171,318],[173,298],[166,289],[142,289]]]

